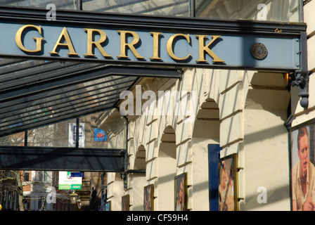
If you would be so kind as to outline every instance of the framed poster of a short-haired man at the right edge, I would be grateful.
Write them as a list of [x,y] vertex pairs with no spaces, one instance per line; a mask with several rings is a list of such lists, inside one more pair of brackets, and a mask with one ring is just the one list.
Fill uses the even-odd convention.
[[315,210],[315,123],[290,130],[290,197],[293,211]]

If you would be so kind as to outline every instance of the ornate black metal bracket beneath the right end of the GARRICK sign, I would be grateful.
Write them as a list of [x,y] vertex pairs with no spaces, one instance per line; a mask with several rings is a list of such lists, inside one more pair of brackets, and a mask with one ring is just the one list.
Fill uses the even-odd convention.
[[307,108],[309,106],[309,71],[296,70],[289,76],[290,85],[297,86],[299,89],[300,105]]

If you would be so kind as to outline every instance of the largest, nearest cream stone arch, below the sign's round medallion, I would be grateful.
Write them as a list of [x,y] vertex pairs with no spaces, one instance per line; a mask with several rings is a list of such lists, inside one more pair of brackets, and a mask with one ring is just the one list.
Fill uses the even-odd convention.
[[[290,93],[283,74],[255,72],[245,98],[244,139],[240,159],[244,163],[245,204],[240,210],[290,210],[288,131],[284,126]],[[257,202],[264,187],[268,204]]]

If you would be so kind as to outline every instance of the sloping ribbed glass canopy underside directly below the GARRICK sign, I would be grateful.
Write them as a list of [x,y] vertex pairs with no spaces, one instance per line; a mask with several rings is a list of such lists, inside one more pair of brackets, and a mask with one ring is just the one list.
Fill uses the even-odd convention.
[[179,78],[174,68],[0,60],[0,136],[117,107],[139,77]]

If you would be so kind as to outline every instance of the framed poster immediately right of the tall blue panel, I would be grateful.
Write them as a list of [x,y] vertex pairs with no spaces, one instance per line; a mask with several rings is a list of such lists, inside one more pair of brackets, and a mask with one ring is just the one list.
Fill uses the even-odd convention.
[[238,210],[237,154],[219,160],[219,211]]

